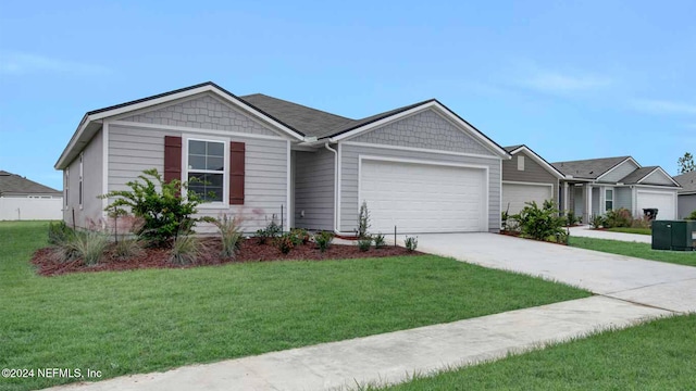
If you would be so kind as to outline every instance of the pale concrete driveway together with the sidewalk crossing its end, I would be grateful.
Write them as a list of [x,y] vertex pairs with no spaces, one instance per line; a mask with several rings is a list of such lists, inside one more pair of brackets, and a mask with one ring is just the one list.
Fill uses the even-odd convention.
[[542,276],[601,295],[54,390],[355,389],[696,311],[696,267],[493,234],[422,235],[419,250]]

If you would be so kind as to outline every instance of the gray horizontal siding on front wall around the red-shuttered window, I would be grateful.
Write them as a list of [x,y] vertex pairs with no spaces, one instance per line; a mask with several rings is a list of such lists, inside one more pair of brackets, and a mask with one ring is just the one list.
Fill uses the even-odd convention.
[[[164,169],[164,136],[192,136],[204,139],[206,134],[188,134],[176,130],[139,128],[137,126],[109,126],[109,191],[127,190],[125,185],[135,180],[144,169]],[[210,135],[210,137],[221,137]],[[278,223],[281,205],[287,217],[287,141],[229,137],[229,141],[246,143],[245,204],[228,209],[198,207],[199,215],[217,217],[223,213],[244,217],[244,230],[253,232],[262,228],[275,214]],[[186,139],[183,140],[186,142]],[[71,173],[72,175],[72,173]],[[200,232],[214,231],[211,225],[202,224]]]

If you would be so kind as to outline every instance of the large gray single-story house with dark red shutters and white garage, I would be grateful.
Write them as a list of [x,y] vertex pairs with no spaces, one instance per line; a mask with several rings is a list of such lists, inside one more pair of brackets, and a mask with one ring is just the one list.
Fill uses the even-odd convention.
[[508,159],[436,100],[351,119],[204,83],[88,112],[55,168],[64,219],[83,227],[104,216],[97,195],[154,167],[166,180],[204,179],[191,189],[207,198],[199,212],[241,215],[246,231],[275,215],[352,234],[365,201],[371,231],[406,234],[497,231]]

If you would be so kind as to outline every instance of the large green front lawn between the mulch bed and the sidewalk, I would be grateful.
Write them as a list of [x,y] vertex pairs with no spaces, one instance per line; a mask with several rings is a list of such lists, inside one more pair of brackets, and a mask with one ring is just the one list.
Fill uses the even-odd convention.
[[[412,256],[37,276],[46,223],[0,223],[0,368],[104,378],[447,323],[586,291]],[[2,379],[26,390],[69,379]]]

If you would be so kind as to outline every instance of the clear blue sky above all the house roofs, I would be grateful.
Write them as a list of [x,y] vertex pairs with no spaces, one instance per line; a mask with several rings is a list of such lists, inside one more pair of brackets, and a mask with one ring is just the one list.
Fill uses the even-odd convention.
[[694,1],[2,1],[0,169],[57,189],[85,112],[212,80],[364,117],[437,98],[547,161],[696,152]]

